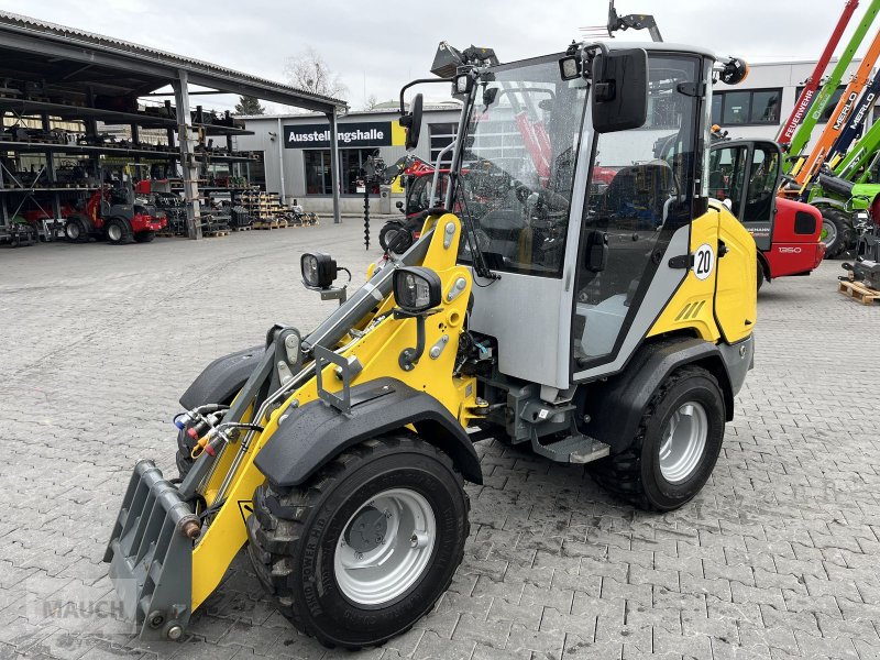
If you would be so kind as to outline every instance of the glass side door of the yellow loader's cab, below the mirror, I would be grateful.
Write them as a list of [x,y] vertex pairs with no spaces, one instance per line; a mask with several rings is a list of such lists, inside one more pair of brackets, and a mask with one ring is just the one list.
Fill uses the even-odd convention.
[[600,134],[580,235],[572,377],[615,373],[688,275],[702,99],[700,58],[649,55],[648,117],[638,130]]

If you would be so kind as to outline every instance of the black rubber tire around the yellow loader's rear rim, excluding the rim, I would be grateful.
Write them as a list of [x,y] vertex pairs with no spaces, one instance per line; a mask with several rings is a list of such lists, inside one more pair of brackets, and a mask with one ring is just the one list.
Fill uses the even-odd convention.
[[[685,404],[696,402],[705,414],[705,446],[696,466],[683,481],[671,483],[660,466],[667,424]],[[698,366],[683,366],[658,388],[639,422],[632,444],[591,464],[595,481],[646,510],[670,512],[690,502],[708,481],[724,440],[725,405],[718,382]]]

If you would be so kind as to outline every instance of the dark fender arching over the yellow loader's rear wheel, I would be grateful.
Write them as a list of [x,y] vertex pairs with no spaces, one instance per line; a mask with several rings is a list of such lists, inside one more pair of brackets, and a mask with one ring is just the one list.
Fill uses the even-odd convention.
[[[609,378],[602,387],[586,389],[584,414],[590,416],[590,421],[581,430],[608,444],[612,453],[626,451],[638,432],[645,407],[657,388],[670,373],[685,364],[697,364],[718,380],[725,417],[730,421],[734,418],[734,395],[751,365],[751,336],[740,343],[748,346],[744,356],[739,355],[739,344],[735,348],[725,346],[734,348],[733,351],[723,351],[713,343],[692,338],[644,344],[620,374]],[[743,364],[734,364],[734,359],[741,360]]]

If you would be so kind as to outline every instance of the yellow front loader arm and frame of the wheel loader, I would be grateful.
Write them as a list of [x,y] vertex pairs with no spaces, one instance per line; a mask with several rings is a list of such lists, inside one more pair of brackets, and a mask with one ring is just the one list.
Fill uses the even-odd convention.
[[[472,418],[472,409],[476,405],[476,383],[473,377],[454,377],[454,362],[458,353],[459,337],[464,324],[468,300],[471,295],[471,274],[462,266],[455,265],[461,235],[461,222],[447,213],[440,218],[430,218],[425,231],[431,227],[436,231],[422,265],[433,270],[442,283],[442,302],[440,311],[426,319],[425,354],[411,371],[404,371],[398,364],[402,351],[416,344],[416,320],[411,318],[395,319],[388,316],[373,323],[373,319],[389,311],[394,307],[393,296],[387,296],[380,304],[375,315],[362,324],[365,334],[356,340],[345,338],[341,353],[345,358],[356,356],[363,366],[353,380],[352,385],[365,383],[378,377],[395,377],[415,389],[430,391],[462,425],[468,427]],[[452,224],[453,233],[447,232]],[[451,240],[444,241],[446,238]],[[391,266],[386,266],[391,267]],[[447,294],[459,278],[464,278],[466,286],[451,301]],[[439,358],[432,359],[428,352],[443,336],[449,337]],[[334,366],[329,365],[322,372],[323,386],[332,389],[331,383],[337,378]],[[191,608],[197,609],[217,588],[227,568],[246,540],[244,521],[250,512],[254,491],[264,482],[263,474],[254,465],[254,458],[278,427],[278,417],[287,405],[296,399],[299,405],[318,398],[317,380],[310,378],[300,388],[294,391],[287,400],[271,415],[262,433],[251,442],[244,460],[240,463],[227,495],[227,503],[220,508],[212,524],[193,551],[193,596]],[[239,443],[227,447],[223,455],[218,458],[219,465],[207,484],[205,497],[210,505],[217,495],[220,483],[229,471]]]

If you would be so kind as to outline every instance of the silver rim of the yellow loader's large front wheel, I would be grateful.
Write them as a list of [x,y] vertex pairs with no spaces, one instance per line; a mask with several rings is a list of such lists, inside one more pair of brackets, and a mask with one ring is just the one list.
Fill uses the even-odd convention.
[[409,488],[383,491],[343,527],[333,557],[337,584],[358,605],[394,601],[425,573],[436,538],[425,497]]

